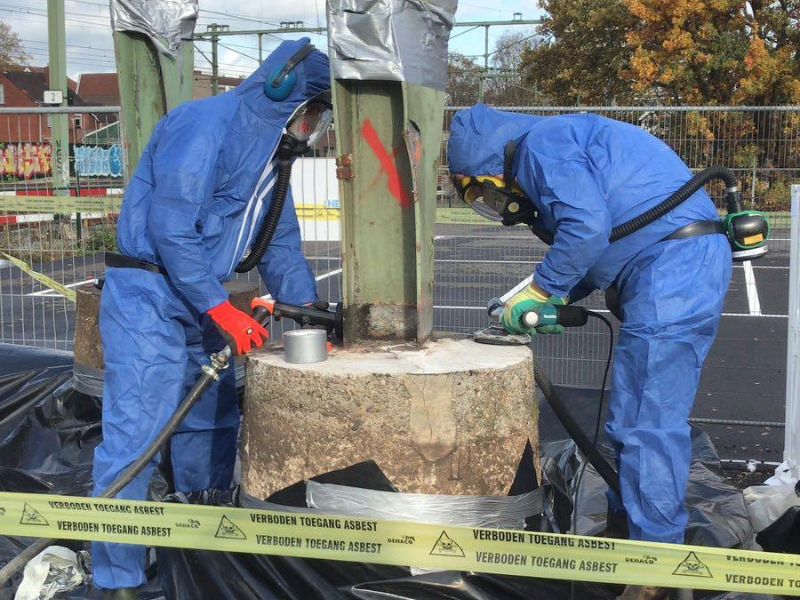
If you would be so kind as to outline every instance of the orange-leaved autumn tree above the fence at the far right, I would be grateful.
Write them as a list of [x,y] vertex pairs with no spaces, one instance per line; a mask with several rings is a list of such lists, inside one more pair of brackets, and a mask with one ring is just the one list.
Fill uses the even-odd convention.
[[800,100],[800,3],[622,0],[634,90],[673,102],[783,104]]

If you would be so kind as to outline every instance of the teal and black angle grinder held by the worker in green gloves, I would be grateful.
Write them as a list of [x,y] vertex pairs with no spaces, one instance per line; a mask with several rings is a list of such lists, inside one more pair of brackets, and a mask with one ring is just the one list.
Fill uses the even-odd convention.
[[[489,327],[477,331],[473,339],[479,344],[493,346],[527,346],[531,336],[527,333],[510,333],[500,323],[505,302],[500,298],[492,298],[486,305],[489,315]],[[582,306],[561,306],[545,304],[538,310],[529,310],[520,317],[520,324],[526,328],[543,325],[563,325],[564,327],[582,327],[589,320],[589,311]]]

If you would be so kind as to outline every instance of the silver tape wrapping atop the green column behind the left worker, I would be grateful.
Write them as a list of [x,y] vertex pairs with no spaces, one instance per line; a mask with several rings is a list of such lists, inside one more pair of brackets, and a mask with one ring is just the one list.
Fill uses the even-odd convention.
[[111,0],[111,27],[143,33],[160,50],[177,56],[181,40],[192,39],[199,11],[198,0]]

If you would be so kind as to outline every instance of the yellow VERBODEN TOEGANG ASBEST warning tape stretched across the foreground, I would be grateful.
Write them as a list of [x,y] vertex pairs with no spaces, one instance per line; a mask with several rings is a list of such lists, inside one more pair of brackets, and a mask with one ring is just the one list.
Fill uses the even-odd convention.
[[0,493],[0,534],[800,595],[800,556],[242,508]]

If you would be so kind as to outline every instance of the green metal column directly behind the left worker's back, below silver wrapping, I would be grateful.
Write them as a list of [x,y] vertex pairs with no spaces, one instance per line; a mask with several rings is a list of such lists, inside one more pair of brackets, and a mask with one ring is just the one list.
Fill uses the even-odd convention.
[[158,120],[171,108],[192,99],[194,52],[192,43],[184,41],[176,59],[159,52],[147,36],[123,31],[114,32],[114,49],[125,174],[130,177]]

